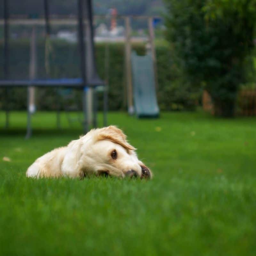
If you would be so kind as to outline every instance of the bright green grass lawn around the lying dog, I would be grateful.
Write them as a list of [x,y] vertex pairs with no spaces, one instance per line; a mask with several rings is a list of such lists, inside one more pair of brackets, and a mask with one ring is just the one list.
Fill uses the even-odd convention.
[[[110,113],[154,179],[27,179],[82,132],[62,114],[0,112],[0,255],[256,255],[256,118]],[[101,123],[100,123],[101,124]],[[10,162],[3,161],[9,157]]]

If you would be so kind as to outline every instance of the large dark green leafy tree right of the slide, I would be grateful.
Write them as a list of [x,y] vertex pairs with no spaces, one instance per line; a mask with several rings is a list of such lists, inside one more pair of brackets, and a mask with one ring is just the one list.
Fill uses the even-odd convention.
[[253,47],[255,0],[166,0],[173,58],[192,86],[211,94],[215,114],[232,116],[244,60]]

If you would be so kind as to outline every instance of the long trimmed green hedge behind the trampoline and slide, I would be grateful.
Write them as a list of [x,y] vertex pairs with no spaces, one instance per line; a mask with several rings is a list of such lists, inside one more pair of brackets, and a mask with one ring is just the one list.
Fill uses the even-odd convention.
[[[44,41],[37,42],[37,76],[48,77],[78,77],[80,70],[79,51],[76,44],[70,44],[62,40],[52,40],[52,51],[48,55],[49,74],[45,69],[45,44]],[[106,78],[105,57],[106,47],[109,52],[109,109],[126,109],[125,100],[125,66],[124,66],[124,44],[104,43],[96,44],[96,65],[102,79]],[[145,53],[144,44],[133,44],[132,49],[138,54]],[[157,98],[161,110],[183,110],[193,109],[198,101],[198,93],[192,92],[189,85],[181,81],[177,76],[177,68],[172,63],[168,45],[156,46],[158,89]],[[3,67],[3,42],[0,42],[0,66]],[[28,40],[13,41],[10,44],[10,77],[12,79],[28,78],[29,70],[29,42]],[[3,68],[0,70],[0,79],[3,79]],[[36,92],[36,104],[39,110],[55,110],[64,105],[71,105],[74,109],[81,109],[81,91],[73,91],[73,100],[66,99],[67,91],[52,88],[40,88]],[[63,93],[64,92],[64,93]],[[26,109],[27,91],[25,88],[9,90],[0,89],[0,109],[4,109],[8,99],[10,109]],[[102,95],[99,94],[99,108],[102,109]]]

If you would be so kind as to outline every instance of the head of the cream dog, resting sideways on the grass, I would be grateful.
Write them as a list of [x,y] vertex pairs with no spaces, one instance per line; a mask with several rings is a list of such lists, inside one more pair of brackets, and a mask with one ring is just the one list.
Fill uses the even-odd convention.
[[80,143],[78,161],[85,175],[152,178],[151,171],[138,159],[135,148],[116,126],[91,130],[80,138]]

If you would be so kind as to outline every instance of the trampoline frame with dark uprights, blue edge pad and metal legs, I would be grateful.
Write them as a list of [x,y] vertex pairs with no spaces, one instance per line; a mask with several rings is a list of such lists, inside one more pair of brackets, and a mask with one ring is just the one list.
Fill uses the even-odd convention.
[[[44,21],[45,21],[45,38],[50,38],[50,22],[49,22],[49,0],[43,1],[44,5]],[[29,87],[64,87],[81,89],[83,95],[83,130],[88,132],[87,104],[86,95],[88,88],[93,89],[93,125],[97,126],[97,93],[98,86],[104,87],[104,109],[103,120],[104,125],[107,124],[107,89],[104,82],[99,78],[95,67],[94,42],[93,42],[93,23],[92,23],[92,0],[77,0],[77,34],[80,55],[80,77],[76,78],[51,78],[46,79],[17,79],[13,80],[9,73],[9,0],[4,0],[4,79],[0,80],[0,87],[27,87],[29,99]],[[86,27],[86,28],[85,28]],[[27,133],[26,138],[32,134],[31,112],[27,103]],[[9,110],[6,109],[6,127],[9,126]]]

